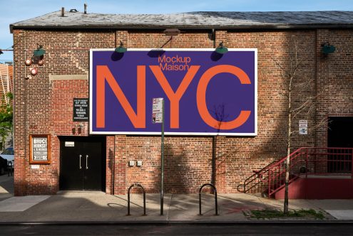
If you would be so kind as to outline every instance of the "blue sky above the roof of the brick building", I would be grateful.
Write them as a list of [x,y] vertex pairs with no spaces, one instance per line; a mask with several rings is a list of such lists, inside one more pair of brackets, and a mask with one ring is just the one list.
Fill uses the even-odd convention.
[[[0,49],[13,45],[10,23],[42,16],[65,7],[101,14],[168,14],[190,11],[353,11],[353,0],[0,0]],[[0,63],[13,60],[12,52]]]

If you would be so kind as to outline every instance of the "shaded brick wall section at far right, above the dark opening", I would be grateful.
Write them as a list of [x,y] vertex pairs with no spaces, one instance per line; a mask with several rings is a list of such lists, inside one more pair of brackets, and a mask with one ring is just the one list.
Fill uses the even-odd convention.
[[[353,117],[353,31],[317,31],[317,91],[319,96],[317,120],[328,117]],[[321,44],[336,47],[330,55],[319,53]],[[317,146],[327,146],[327,126],[317,129]]]

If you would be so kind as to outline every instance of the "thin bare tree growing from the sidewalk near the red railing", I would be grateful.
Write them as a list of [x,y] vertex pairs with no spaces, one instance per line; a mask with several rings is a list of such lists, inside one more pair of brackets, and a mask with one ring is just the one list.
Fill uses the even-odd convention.
[[[290,181],[290,151],[292,148],[292,136],[293,134],[299,133],[298,129],[292,130],[292,125],[294,120],[300,117],[311,117],[314,110],[316,109],[317,97],[322,94],[322,92],[314,91],[311,92],[311,95],[305,94],[305,90],[310,87],[314,87],[314,78],[310,78],[307,81],[300,80],[298,73],[302,70],[305,70],[303,61],[305,58],[300,55],[298,48],[298,42],[294,40],[291,44],[294,45],[294,48],[291,48],[289,57],[287,58],[287,63],[280,63],[278,60],[275,60],[275,65],[280,68],[280,77],[286,85],[285,92],[281,95],[284,95],[287,100],[287,158],[285,161],[285,203],[284,203],[284,213],[287,214],[289,211],[288,208],[288,186]],[[322,125],[327,124],[327,119],[322,119],[317,121],[308,131],[312,131],[321,127]]]

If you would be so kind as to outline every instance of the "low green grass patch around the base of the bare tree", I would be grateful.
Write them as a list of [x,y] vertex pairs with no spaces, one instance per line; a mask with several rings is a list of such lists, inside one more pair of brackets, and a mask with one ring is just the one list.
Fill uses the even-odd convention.
[[280,210],[250,210],[250,218],[272,219],[272,218],[305,218],[323,220],[324,214],[314,209],[290,210],[288,214],[284,214]]

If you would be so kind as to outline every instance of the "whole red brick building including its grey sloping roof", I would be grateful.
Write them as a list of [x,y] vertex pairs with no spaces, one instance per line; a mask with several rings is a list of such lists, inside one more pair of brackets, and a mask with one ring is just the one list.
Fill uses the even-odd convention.
[[[210,182],[220,193],[237,193],[237,186],[253,170],[286,155],[288,102],[283,93],[288,83],[281,73],[290,68],[295,52],[301,60],[295,86],[305,86],[293,106],[299,108],[307,97],[313,102],[292,122],[294,131],[300,119],[308,122],[306,135],[293,134],[292,151],[302,146],[353,147],[352,133],[338,143],[328,141],[332,117],[352,130],[352,16],[347,11],[161,15],[66,11],[61,16],[58,11],[11,24],[15,194],[55,194],[77,186],[91,189],[91,181],[97,182],[96,190],[108,194],[125,194],[131,183],[141,183],[148,193],[160,191],[160,136],[93,135],[88,121],[73,121],[73,99],[89,98],[90,49],[113,50],[120,41],[126,48],[216,48],[220,42],[227,48],[257,48],[257,135],[165,136],[166,193],[196,193]],[[180,33],[170,38],[164,32],[167,28]],[[46,50],[43,65],[41,58],[33,57],[38,45]],[[323,45],[334,45],[336,50],[322,53]],[[33,63],[26,65],[27,59]],[[31,75],[30,68],[38,73]],[[30,136],[46,138],[48,163],[31,162]],[[67,152],[71,145],[82,154]],[[80,168],[85,168],[89,157],[82,150],[90,148],[100,150],[96,155],[101,159],[95,163],[96,176],[86,178],[72,166],[80,161]],[[75,161],[71,156],[76,156]],[[129,166],[129,161],[142,161],[142,166]]]

